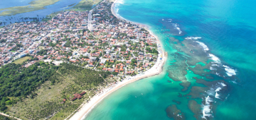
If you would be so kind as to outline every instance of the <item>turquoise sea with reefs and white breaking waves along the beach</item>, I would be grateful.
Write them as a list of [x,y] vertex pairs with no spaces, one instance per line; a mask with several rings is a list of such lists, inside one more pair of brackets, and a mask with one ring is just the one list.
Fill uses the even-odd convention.
[[168,61],[161,75],[117,90],[86,119],[255,119],[255,4],[119,1],[117,13],[149,25],[164,44]]

